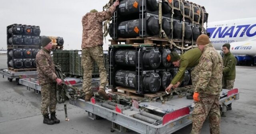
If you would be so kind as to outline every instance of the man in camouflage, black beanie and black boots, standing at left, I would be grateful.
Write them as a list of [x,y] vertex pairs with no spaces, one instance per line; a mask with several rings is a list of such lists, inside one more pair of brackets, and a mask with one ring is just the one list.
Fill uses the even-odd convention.
[[[58,79],[55,74],[54,63],[50,55],[52,40],[48,37],[43,37],[41,39],[41,44],[42,49],[36,54],[36,69],[42,95],[41,113],[44,116],[43,123],[52,125],[54,123],[60,123],[60,120],[58,120],[55,115],[57,104],[56,83],[60,85],[62,80]],[[51,114],[50,118],[48,107]]]

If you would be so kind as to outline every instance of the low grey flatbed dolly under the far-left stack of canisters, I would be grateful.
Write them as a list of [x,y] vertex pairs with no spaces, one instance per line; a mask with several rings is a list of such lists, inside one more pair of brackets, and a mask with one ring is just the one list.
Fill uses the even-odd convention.
[[37,71],[11,71],[8,69],[0,69],[0,74],[4,77],[7,77],[8,81],[12,82],[12,79],[15,79],[17,85],[19,85],[19,79],[21,78],[29,78],[29,77],[37,77]]

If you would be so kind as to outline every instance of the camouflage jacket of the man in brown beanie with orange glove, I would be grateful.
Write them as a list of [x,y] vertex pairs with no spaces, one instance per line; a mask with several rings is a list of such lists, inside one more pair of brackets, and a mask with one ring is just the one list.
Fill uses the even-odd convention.
[[204,48],[199,66],[199,79],[195,92],[219,95],[222,89],[222,57],[211,43]]

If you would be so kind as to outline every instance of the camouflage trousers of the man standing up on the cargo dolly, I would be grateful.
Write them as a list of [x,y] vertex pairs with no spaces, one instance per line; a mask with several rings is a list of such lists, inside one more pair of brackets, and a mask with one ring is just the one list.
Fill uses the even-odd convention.
[[102,46],[84,48],[82,50],[82,65],[84,69],[83,91],[86,95],[92,93],[92,69],[93,62],[96,62],[100,73],[100,89],[105,89],[108,83],[108,75],[104,64]]

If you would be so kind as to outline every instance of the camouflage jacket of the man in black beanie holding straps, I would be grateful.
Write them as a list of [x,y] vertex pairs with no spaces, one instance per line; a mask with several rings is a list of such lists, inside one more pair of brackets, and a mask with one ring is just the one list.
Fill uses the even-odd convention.
[[58,78],[55,74],[54,63],[50,51],[44,48],[36,54],[36,69],[40,85],[54,83]]

